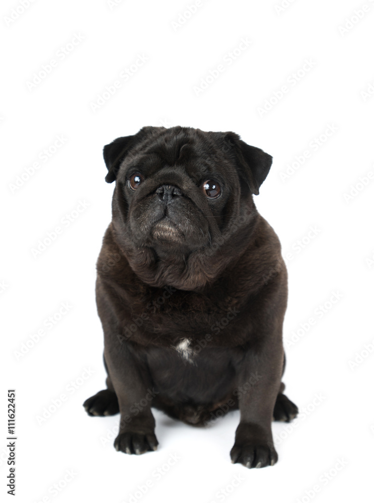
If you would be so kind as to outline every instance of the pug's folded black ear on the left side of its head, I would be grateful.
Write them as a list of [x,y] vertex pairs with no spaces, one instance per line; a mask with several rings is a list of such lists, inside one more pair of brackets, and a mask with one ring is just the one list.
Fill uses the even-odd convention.
[[[105,181],[108,184],[114,182],[117,178],[119,166],[123,159],[130,155],[130,150],[134,147],[141,139],[145,136],[152,134],[153,131],[161,129],[153,126],[145,126],[140,129],[136,134],[131,136],[121,136],[116,140],[112,141],[112,143],[108,143],[105,145],[103,149],[104,161],[108,168],[108,174],[105,177]],[[165,129],[165,128],[163,128]]]

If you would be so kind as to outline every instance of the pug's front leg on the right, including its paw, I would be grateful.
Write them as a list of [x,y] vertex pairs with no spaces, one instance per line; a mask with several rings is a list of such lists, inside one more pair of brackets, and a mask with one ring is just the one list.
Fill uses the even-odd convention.
[[267,338],[261,348],[248,349],[238,369],[240,423],[231,450],[233,463],[248,468],[273,465],[278,455],[273,446],[271,422],[283,365],[281,337]]

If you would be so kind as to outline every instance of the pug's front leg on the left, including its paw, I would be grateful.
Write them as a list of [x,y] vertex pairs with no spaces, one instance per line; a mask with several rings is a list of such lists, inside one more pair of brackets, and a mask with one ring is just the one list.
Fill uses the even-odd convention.
[[134,357],[129,343],[118,346],[114,341],[107,342],[105,361],[121,414],[114,447],[127,454],[156,450],[158,441],[151,403],[157,391],[148,370],[144,362]]

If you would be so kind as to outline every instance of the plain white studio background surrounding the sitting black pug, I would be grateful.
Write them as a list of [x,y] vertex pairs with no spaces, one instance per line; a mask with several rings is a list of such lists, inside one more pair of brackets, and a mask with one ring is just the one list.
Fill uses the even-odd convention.
[[[205,0],[182,19],[185,0],[123,0],[112,8],[105,0],[35,0],[10,22],[20,4],[2,3],[0,492],[8,499],[6,402],[7,389],[15,387],[18,501],[367,500],[374,447],[374,180],[362,185],[360,177],[374,172],[374,3],[367,0],[361,19],[354,13],[362,10],[359,1],[295,0],[277,12],[280,4]],[[184,24],[173,24],[178,19]],[[351,28],[344,31],[346,24]],[[84,38],[59,59],[74,34]],[[242,38],[251,44],[240,51]],[[233,60],[228,54],[235,49]],[[138,55],[147,60],[121,80]],[[57,66],[28,86],[52,59]],[[306,60],[312,67],[295,82],[291,74]],[[223,71],[196,93],[219,64]],[[120,89],[93,111],[115,80]],[[273,424],[274,467],[230,463],[238,412],[204,430],[155,411],[158,452],[128,456],[112,447],[118,416],[88,417],[82,407],[105,386],[94,284],[114,186],[104,181],[102,147],[145,125],[233,130],[273,155],[255,201],[279,235],[283,256],[292,254],[284,381],[290,399],[307,407],[295,422]],[[323,136],[329,126],[335,131]],[[40,153],[57,135],[64,144],[43,162]],[[310,156],[302,163],[305,150]],[[36,161],[39,169],[20,182]],[[282,180],[292,163],[298,169]],[[351,191],[354,196],[344,196]],[[89,205],[65,226],[80,201]],[[62,233],[34,257],[32,248],[58,226]],[[311,227],[316,231],[308,237]],[[334,293],[339,300],[330,303]],[[44,321],[61,303],[71,308],[48,329]],[[85,368],[94,371],[87,379]],[[53,400],[60,406],[41,421]],[[173,466],[171,455],[179,458]],[[156,476],[158,469],[163,474]],[[74,476],[66,482],[68,470]],[[232,490],[235,476],[242,481]],[[152,487],[137,492],[149,480]],[[58,491],[50,489],[54,484]]]

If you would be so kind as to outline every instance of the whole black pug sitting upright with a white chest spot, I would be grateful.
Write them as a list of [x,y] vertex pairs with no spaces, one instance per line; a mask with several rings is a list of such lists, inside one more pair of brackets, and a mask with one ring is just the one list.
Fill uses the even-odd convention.
[[191,425],[235,408],[233,463],[277,461],[287,273],[256,210],[272,157],[232,132],[144,127],[104,147],[116,181],[97,263],[107,389],[89,415],[120,412],[115,448],[157,449],[151,406]]

